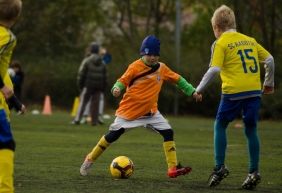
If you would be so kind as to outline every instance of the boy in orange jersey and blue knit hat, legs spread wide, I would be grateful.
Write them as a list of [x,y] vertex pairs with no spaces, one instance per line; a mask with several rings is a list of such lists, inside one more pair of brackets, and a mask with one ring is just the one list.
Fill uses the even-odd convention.
[[126,72],[112,88],[115,97],[120,96],[126,88],[123,98],[116,110],[116,119],[93,150],[86,156],[80,168],[80,174],[86,176],[93,162],[116,141],[125,131],[136,127],[145,127],[158,132],[164,139],[163,148],[168,165],[167,175],[175,178],[188,174],[190,167],[183,167],[177,162],[173,130],[158,111],[158,97],[164,81],[177,85],[186,95],[196,100],[201,95],[182,76],[170,70],[166,64],[159,62],[160,41],[153,35],[147,36],[140,48],[141,58],[131,63]]

